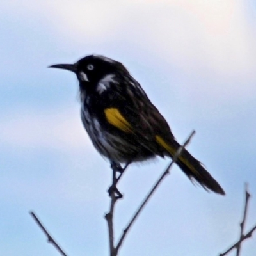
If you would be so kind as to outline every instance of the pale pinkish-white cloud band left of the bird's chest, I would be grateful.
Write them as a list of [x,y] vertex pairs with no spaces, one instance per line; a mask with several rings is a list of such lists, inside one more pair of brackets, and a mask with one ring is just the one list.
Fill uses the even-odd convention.
[[[22,115],[21,115],[22,113]],[[1,144],[21,148],[45,147],[79,150],[90,145],[79,113],[72,109],[50,109],[42,113],[20,109],[1,117]]]

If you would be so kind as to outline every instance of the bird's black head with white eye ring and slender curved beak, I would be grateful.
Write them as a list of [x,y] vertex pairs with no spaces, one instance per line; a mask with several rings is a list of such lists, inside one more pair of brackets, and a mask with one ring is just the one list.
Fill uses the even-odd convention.
[[49,67],[74,72],[79,80],[80,90],[87,93],[103,92],[108,83],[115,81],[116,76],[129,75],[122,63],[99,55],[86,56],[74,64],[56,64]]

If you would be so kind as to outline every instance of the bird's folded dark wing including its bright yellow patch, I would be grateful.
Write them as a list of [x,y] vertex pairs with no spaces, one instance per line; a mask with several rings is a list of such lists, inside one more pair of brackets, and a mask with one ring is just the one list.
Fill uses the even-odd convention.
[[177,148],[171,148],[170,142],[175,138],[170,127],[140,84],[133,80],[132,85],[122,84],[120,90],[111,93],[111,105],[104,109],[108,124],[124,132],[124,135],[135,137],[155,154],[161,155],[166,151],[166,145],[169,145],[167,151],[175,154]]

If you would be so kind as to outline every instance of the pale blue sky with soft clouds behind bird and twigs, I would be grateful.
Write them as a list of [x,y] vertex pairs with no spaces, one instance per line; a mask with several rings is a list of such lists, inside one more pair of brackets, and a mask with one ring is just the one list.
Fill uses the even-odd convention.
[[[253,0],[2,0],[0,3],[0,251],[109,255],[109,163],[79,117],[74,74],[48,69],[102,54],[124,63],[226,196],[174,167],[120,255],[218,255],[256,223],[256,4]],[[132,164],[118,188],[115,237],[170,159]],[[255,237],[242,255],[254,256]]]

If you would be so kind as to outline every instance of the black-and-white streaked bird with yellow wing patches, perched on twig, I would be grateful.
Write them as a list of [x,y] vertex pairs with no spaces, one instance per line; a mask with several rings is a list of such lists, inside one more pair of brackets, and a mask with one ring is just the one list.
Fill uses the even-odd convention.
[[[56,64],[74,72],[79,81],[81,120],[93,146],[111,166],[170,157],[180,144],[170,126],[125,66],[91,54],[74,64]],[[191,181],[225,195],[204,165],[184,149],[176,161]]]

